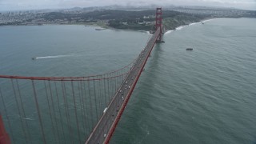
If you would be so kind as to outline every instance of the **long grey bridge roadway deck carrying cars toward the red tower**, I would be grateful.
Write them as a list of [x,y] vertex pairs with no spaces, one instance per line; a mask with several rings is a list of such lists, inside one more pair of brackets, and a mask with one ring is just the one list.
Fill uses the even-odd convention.
[[86,144],[102,144],[110,141],[114,129],[121,118],[122,112],[126,107],[136,83],[138,82],[138,78],[146,65],[146,61],[154,48],[154,44],[157,41],[159,34],[160,28],[156,30],[146,47],[142,50],[141,54],[139,54],[136,62],[134,62],[134,66],[130,69],[130,73],[125,78],[125,81],[122,83],[122,86],[120,86],[118,92],[112,98],[109,106],[105,110],[105,113],[102,112],[102,118],[100,118],[98,124],[90,134]]

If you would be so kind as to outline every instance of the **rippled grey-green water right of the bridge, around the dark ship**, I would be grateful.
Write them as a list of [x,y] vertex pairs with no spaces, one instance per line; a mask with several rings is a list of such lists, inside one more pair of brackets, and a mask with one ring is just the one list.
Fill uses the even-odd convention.
[[250,18],[167,32],[111,143],[255,143],[255,40]]

